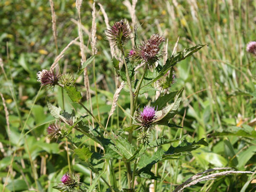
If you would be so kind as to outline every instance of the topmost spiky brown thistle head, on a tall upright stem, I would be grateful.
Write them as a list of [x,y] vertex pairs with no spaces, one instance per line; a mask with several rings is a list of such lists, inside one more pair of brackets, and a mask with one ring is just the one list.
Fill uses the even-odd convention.
[[122,49],[123,44],[131,39],[132,30],[124,20],[117,21],[112,27],[106,30],[106,36],[118,49]]

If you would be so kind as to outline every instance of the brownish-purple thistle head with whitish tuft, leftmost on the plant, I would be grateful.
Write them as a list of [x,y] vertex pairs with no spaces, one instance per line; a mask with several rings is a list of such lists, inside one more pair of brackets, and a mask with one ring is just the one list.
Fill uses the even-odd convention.
[[54,87],[58,85],[59,77],[59,73],[54,72],[54,70],[43,69],[37,73],[37,81],[40,82],[42,86]]

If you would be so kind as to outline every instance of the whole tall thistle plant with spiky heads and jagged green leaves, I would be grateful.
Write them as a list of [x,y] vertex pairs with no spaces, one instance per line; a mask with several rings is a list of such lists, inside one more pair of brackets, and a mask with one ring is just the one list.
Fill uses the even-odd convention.
[[[76,111],[85,110],[86,115],[84,116],[81,113],[76,113],[75,110],[70,114],[65,109],[54,106],[48,101],[47,105],[50,113],[58,122],[65,124],[66,128],[64,129],[64,126],[61,126],[60,123],[50,124],[47,128],[47,134],[51,139],[57,139],[56,142],[61,142],[61,140],[68,141],[70,145],[67,144],[67,147],[70,148],[69,151],[74,153],[72,157],[78,157],[78,162],[88,167],[93,173],[94,178],[98,178],[103,182],[103,184],[93,182],[93,185],[97,186],[96,189],[101,188],[103,185],[105,191],[135,191],[137,190],[135,186],[137,178],[146,178],[149,181],[151,179],[159,179],[157,172],[151,172],[153,165],[173,156],[186,155],[188,151],[194,150],[201,145],[207,146],[203,139],[198,142],[189,143],[185,138],[180,138],[177,141],[181,142],[182,147],[178,146],[179,150],[177,152],[170,152],[173,148],[170,144],[170,149],[167,151],[161,148],[162,145],[171,142],[171,140],[166,140],[164,137],[164,127],[179,127],[174,123],[169,123],[179,111],[183,92],[183,88],[176,92],[169,92],[175,78],[173,67],[179,61],[186,59],[189,55],[201,49],[204,45],[196,45],[171,55],[163,66],[159,61],[162,60],[163,53],[161,47],[165,42],[165,38],[161,35],[153,34],[147,41],[141,41],[139,45],[131,47],[129,41],[135,35],[129,26],[127,21],[121,20],[115,22],[105,32],[106,36],[110,39],[110,43],[121,51],[121,55],[116,54],[119,58],[114,58],[113,61],[121,62],[117,63],[114,67],[117,75],[119,75],[119,81],[123,81],[114,94],[107,123],[101,121],[100,113],[97,117],[93,114],[93,110],[87,108],[87,101],[82,96],[81,91],[79,91],[79,86],[74,78],[74,76],[78,78],[83,73],[86,66],[93,61],[95,55],[88,58],[74,75],[72,73],[59,74],[53,70],[45,69],[37,74],[38,81],[41,82],[43,87],[59,85],[61,90],[67,93],[70,100],[76,103]],[[156,62],[158,62],[157,69],[155,68]],[[144,63],[143,69],[136,76],[136,79],[139,79],[139,81],[134,81],[134,69],[141,65],[141,63]],[[154,71],[154,73],[149,69]],[[161,93],[158,98],[150,95],[150,101],[139,102],[144,97],[141,94],[141,90],[152,89],[155,82],[159,85],[158,88],[160,90],[164,89],[166,91]],[[126,114],[127,118],[124,119],[122,129],[115,132],[113,124],[109,126],[108,122],[114,114],[116,107],[122,108],[117,105],[118,97],[122,95],[122,89],[130,93],[130,108],[127,109],[129,114]],[[80,109],[77,108],[78,106],[80,106]],[[140,107],[143,108],[141,111],[139,111]],[[93,124],[89,117],[92,118]],[[121,124],[118,124],[118,126],[121,126]],[[160,138],[154,136],[155,126],[162,127]],[[77,137],[78,132],[82,133],[82,136]],[[93,140],[100,146],[100,150],[97,150],[96,145],[93,149],[85,143],[79,142],[78,138],[81,137]],[[157,156],[150,157],[148,151],[153,150],[152,148],[156,148],[155,154]],[[126,174],[126,182],[121,183],[121,185],[118,185],[116,182],[116,173],[112,163],[117,162],[118,159],[121,159],[120,170],[123,170],[121,167],[125,167],[124,173]],[[151,159],[152,162],[142,164],[141,161],[144,161],[143,159]],[[103,174],[106,167],[108,167],[108,170],[111,170],[109,175]],[[73,167],[69,164],[69,170],[72,169]],[[106,177],[110,179],[107,181]],[[155,181],[155,191],[156,185],[157,182]],[[62,176],[61,183],[55,188],[62,191],[85,191],[85,188],[83,189],[81,186],[86,186],[85,188],[89,189],[93,187],[78,181],[74,173],[68,172]]]

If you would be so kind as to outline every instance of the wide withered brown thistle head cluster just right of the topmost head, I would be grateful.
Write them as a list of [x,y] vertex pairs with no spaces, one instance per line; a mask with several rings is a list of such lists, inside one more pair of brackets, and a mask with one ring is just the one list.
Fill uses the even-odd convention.
[[133,49],[135,53],[131,57],[152,64],[158,60],[159,46],[164,41],[164,37],[153,34],[148,41],[142,42],[138,47]]

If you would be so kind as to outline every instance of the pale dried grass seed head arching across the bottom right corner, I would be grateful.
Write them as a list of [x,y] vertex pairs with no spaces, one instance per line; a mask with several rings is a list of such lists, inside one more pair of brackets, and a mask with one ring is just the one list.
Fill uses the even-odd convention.
[[222,172],[219,172],[219,173],[212,173],[212,174],[209,174],[209,175],[206,175],[206,176],[202,177],[202,175],[205,174],[205,173],[210,173],[210,172],[215,171],[215,170],[227,170],[227,169],[231,169],[231,168],[230,167],[215,167],[213,169],[209,169],[209,170],[206,170],[204,172],[197,173],[197,174],[193,175],[191,178],[189,178],[187,181],[183,182],[180,186],[175,188],[175,190],[173,192],[181,192],[186,187],[196,185],[196,183],[198,183],[198,182],[213,180],[213,179],[216,179],[217,177],[224,176],[224,175],[240,174],[240,173],[254,173],[254,172],[251,172],[251,171],[222,171]]

